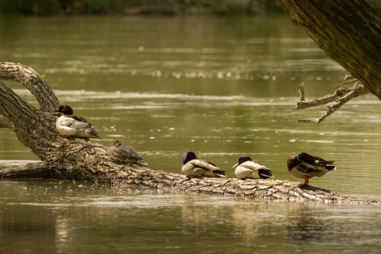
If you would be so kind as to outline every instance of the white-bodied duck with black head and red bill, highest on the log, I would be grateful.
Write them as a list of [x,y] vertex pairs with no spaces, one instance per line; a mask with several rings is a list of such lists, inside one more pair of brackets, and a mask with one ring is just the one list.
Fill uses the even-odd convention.
[[55,128],[64,138],[96,138],[102,140],[98,132],[85,118],[73,115],[73,109],[68,105],[60,105],[54,112],[63,113],[55,122]]

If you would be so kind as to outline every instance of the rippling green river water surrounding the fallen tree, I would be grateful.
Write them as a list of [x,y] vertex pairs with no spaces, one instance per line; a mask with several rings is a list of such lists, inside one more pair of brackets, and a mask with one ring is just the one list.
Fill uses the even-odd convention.
[[[301,151],[336,160],[310,183],[381,200],[381,103],[296,111],[337,88],[346,71],[290,18],[1,18],[0,61],[46,73],[61,104],[86,117],[111,145],[135,147],[153,169],[181,172],[195,151],[234,177],[249,155],[276,179],[295,180],[287,158]],[[139,50],[140,49],[140,50]],[[21,85],[5,81],[36,105]],[[97,141],[98,142],[98,141]],[[0,129],[0,166],[36,161]],[[297,180],[300,181],[300,180]],[[80,186],[82,185],[82,186]],[[55,187],[56,186],[56,187]],[[92,183],[4,180],[1,253],[370,253],[380,252],[380,209],[250,200]]]

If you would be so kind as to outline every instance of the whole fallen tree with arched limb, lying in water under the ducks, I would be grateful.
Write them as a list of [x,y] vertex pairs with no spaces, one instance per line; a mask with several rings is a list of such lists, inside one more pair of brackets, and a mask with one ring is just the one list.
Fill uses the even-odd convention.
[[293,181],[187,178],[182,174],[156,171],[136,164],[114,163],[104,145],[82,138],[61,139],[55,129],[58,115],[50,112],[58,107],[58,99],[32,68],[0,63],[0,78],[20,82],[36,97],[40,109],[26,103],[0,82],[0,127],[12,128],[18,140],[42,160],[39,163],[2,168],[2,177],[94,181],[251,198],[380,204],[375,200],[342,196],[313,186],[301,189],[297,187],[298,182]]

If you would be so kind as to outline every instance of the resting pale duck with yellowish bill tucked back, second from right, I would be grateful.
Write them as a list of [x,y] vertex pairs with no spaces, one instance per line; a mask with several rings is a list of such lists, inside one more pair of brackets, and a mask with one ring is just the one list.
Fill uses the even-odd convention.
[[254,162],[249,156],[239,157],[238,162],[233,166],[236,168],[234,174],[239,179],[268,179],[274,178],[272,172],[262,163]]

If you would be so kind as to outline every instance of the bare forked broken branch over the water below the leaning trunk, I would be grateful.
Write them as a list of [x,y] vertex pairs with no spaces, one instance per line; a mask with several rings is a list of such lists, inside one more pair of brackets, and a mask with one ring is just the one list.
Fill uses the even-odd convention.
[[[352,78],[352,76],[345,76],[345,79]],[[353,79],[348,82],[341,83],[340,85],[347,85],[350,83],[356,82],[355,85],[353,85],[350,88],[344,89],[344,88],[339,88],[338,90],[334,91],[331,94],[328,94],[324,97],[318,98],[318,99],[310,99],[310,100],[305,100],[305,93],[304,93],[304,88],[303,85],[299,85],[299,101],[296,103],[295,109],[307,109],[310,107],[315,107],[315,106],[321,106],[321,105],[326,105],[328,103],[336,101],[335,104],[331,105],[328,107],[328,111],[323,114],[320,118],[312,118],[312,119],[303,119],[303,120],[298,120],[300,123],[316,123],[319,124],[322,122],[324,119],[326,119],[329,115],[334,113],[337,109],[340,109],[345,103],[347,103],[349,100],[356,98],[360,95],[364,95],[367,93],[370,93],[370,91],[364,87],[363,84],[360,84],[358,82],[358,79]]]

